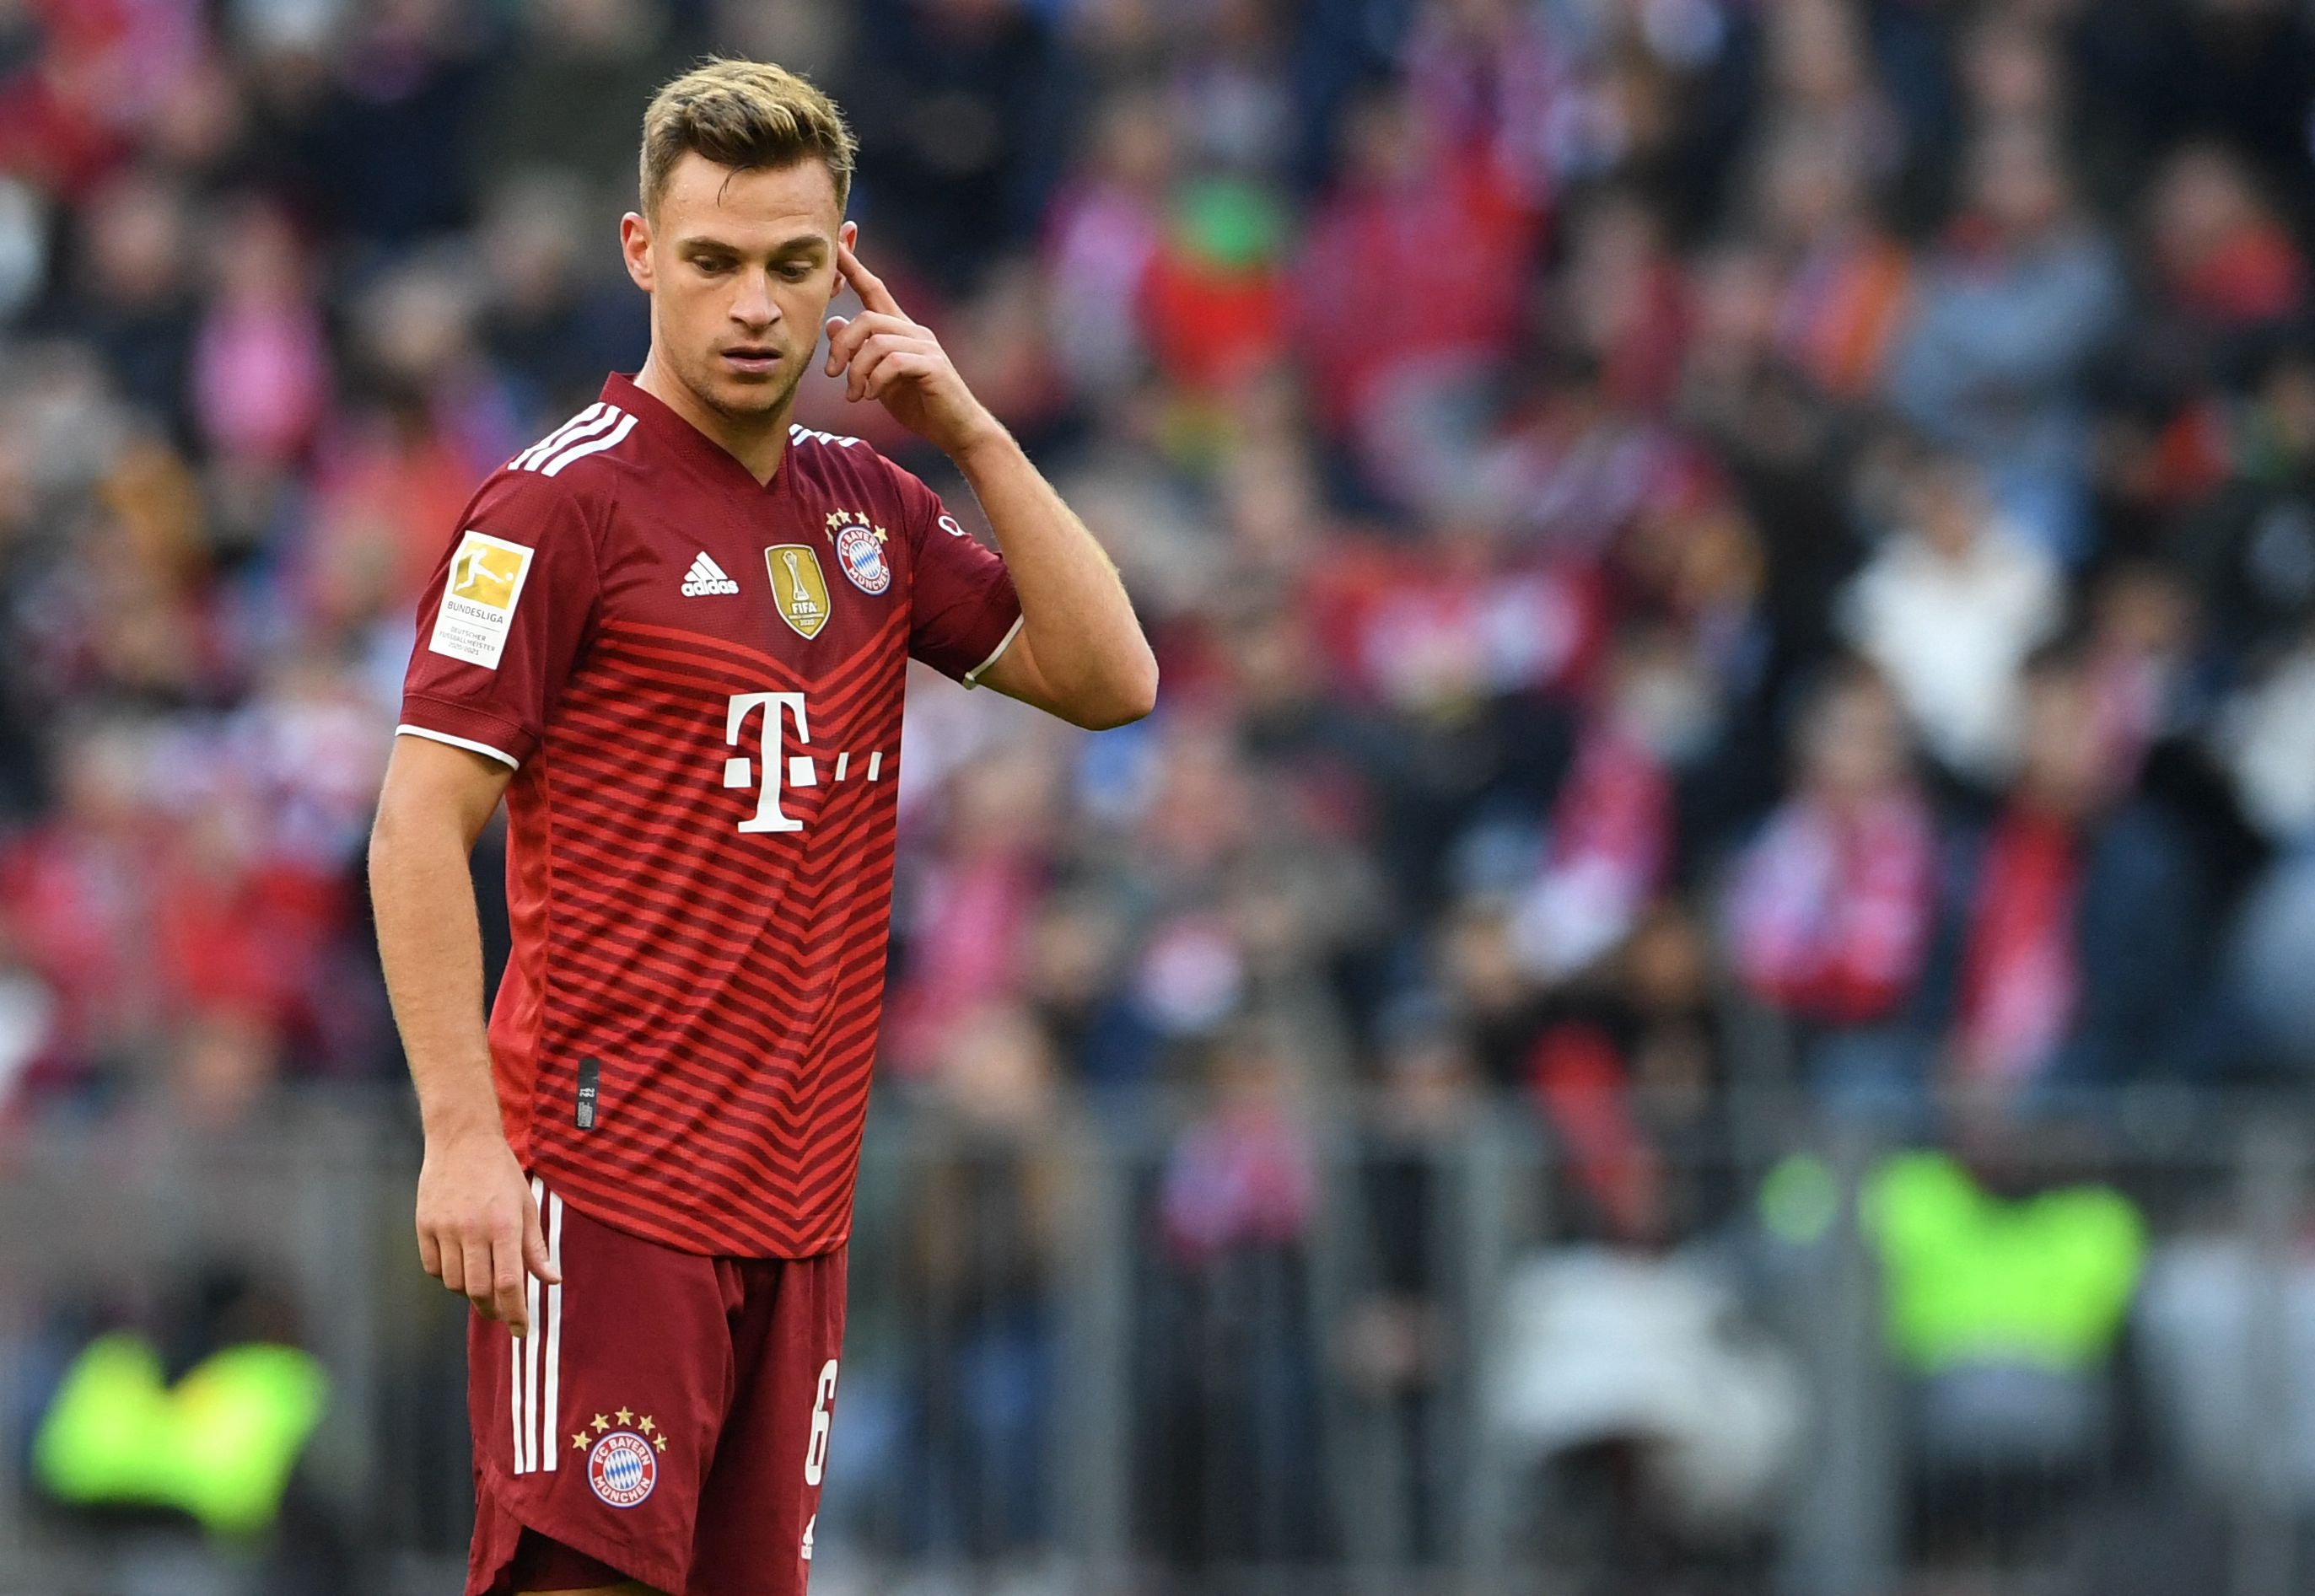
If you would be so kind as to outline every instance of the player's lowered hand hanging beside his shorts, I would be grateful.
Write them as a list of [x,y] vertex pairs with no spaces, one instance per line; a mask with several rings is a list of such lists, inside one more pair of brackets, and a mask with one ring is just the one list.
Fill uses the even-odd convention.
[[426,1138],[419,1168],[419,1263],[484,1318],[530,1335],[528,1277],[563,1279],[546,1256],[539,1205],[495,1129]]

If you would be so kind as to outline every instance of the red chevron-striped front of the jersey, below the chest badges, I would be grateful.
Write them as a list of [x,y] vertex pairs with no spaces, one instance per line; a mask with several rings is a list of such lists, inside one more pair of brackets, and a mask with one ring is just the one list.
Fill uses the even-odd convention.
[[[569,1101],[579,1059],[597,1057],[600,1096],[586,1131],[537,1115],[532,1152],[586,1212],[690,1251],[803,1258],[850,1233],[884,997],[905,625],[894,611],[803,680],[741,643],[609,622],[565,689],[523,796],[551,814],[558,884],[535,1092]],[[734,856],[752,796],[715,779],[725,703],[764,689],[808,708],[810,738],[780,749],[782,803],[803,826],[748,835]]]

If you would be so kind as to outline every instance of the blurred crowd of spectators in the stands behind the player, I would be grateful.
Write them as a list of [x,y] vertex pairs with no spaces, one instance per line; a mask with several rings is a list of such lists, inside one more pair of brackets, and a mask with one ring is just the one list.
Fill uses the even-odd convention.
[[[0,0],[0,1124],[398,1078],[417,585],[641,361],[616,220],[706,51],[838,97],[861,254],[1164,666],[1097,738],[912,694],[884,1089],[972,1436],[914,1534],[1035,1473],[1063,1147],[1137,1087],[1181,1300],[1370,1106],[1340,1362],[1417,1432],[1391,1150],[1472,1115],[1653,1244],[1748,1087],[1986,1136],[2315,1064],[2299,0]],[[1248,1335],[1164,1411],[1292,1457]]]

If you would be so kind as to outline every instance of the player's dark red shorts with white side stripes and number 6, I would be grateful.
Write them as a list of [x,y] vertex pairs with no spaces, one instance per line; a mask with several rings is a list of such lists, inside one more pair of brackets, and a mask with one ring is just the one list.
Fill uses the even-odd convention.
[[681,1596],[803,1596],[845,1249],[708,1258],[530,1191],[563,1284],[530,1281],[528,1339],[468,1323],[468,1596],[597,1564]]

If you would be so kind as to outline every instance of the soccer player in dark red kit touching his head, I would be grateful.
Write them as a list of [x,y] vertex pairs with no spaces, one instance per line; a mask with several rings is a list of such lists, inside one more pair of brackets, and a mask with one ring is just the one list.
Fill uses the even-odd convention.
[[[620,224],[651,354],[482,486],[419,604],[370,888],[419,1258],[475,1305],[475,1596],[806,1589],[907,662],[1079,726],[1158,692],[1116,567],[854,254],[852,150],[771,65],[660,90]],[[1002,557],[789,426],[845,285],[826,370],[956,463]]]

